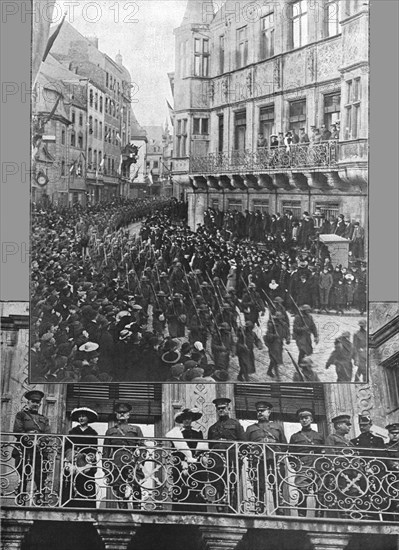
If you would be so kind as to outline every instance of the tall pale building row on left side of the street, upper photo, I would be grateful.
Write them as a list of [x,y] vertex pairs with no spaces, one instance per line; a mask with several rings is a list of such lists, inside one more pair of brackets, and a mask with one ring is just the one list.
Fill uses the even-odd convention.
[[[122,55],[113,60],[98,48],[98,38],[64,22],[41,69],[33,123],[40,116],[45,120],[58,95],[62,101],[45,124],[51,142],[44,150],[41,144],[34,159],[33,172],[47,177],[35,178],[33,200],[46,194],[52,202],[94,204],[130,195],[136,170],[122,168],[124,150],[136,141],[143,145],[145,132],[133,114],[132,80]],[[48,88],[54,100],[46,100]]]

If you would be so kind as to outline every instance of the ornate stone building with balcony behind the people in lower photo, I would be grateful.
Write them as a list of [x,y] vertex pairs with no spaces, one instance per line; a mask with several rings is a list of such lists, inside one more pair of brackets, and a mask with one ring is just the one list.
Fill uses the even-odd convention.
[[[32,386],[28,383],[28,312],[27,304],[1,304],[1,351],[2,351],[2,454],[1,454],[1,519],[2,548],[5,550],[397,550],[399,525],[394,517],[382,515],[368,516],[361,512],[361,502],[357,501],[360,512],[348,504],[345,514],[328,514],[315,517],[308,512],[306,517],[298,517],[295,495],[289,489],[288,470],[282,470],[286,487],[281,491],[285,506],[279,511],[273,507],[273,496],[269,495],[271,508],[256,510],[251,493],[251,477],[242,472],[251,470],[250,459],[243,459],[240,469],[231,471],[225,482],[231,487],[239,487],[237,501],[231,500],[226,510],[219,510],[210,500],[200,511],[191,512],[174,508],[171,498],[171,481],[163,477],[171,455],[170,444],[163,439],[173,426],[176,412],[184,407],[197,407],[203,413],[196,423],[205,437],[211,424],[215,422],[215,396],[229,397],[232,400],[232,415],[247,426],[255,422],[254,404],[265,398],[273,404],[273,418],[285,430],[287,437],[298,430],[295,411],[301,406],[311,406],[315,411],[315,424],[323,434],[331,432],[331,418],[340,412],[347,412],[353,418],[349,437],[359,434],[357,414],[369,412],[374,421],[374,430],[386,439],[384,426],[398,421],[398,402],[387,385],[392,380],[386,377],[385,369],[397,370],[399,308],[397,304],[374,304],[371,308],[371,377],[369,383],[352,385],[212,385],[212,384],[110,384],[110,385],[38,385],[45,392],[41,412],[51,425],[50,450],[45,460],[50,467],[46,470],[48,500],[38,503],[28,495],[21,503],[16,498],[18,487],[15,455],[15,436],[12,432],[14,417],[22,407],[22,396]],[[375,314],[374,314],[375,312]],[[391,345],[391,347],[389,347]],[[388,346],[388,347],[386,347]],[[388,351],[387,351],[388,350]],[[396,363],[395,363],[396,361]],[[397,386],[396,386],[397,388]],[[397,399],[397,397],[396,397]],[[88,406],[99,413],[94,425],[97,432],[104,435],[108,428],[113,404],[127,401],[133,405],[130,422],[142,427],[143,433],[152,446],[147,446],[145,460],[152,464],[144,470],[147,476],[143,481],[143,500],[139,507],[129,505],[119,509],[115,499],[110,498],[109,485],[101,478],[100,472],[106,468],[104,461],[98,462],[96,483],[99,491],[95,502],[88,507],[72,507],[61,497],[64,483],[64,435],[71,427],[70,412],[78,406]],[[37,437],[37,436],[33,436]],[[47,442],[48,443],[48,442]],[[103,440],[99,440],[99,450]],[[162,451],[161,451],[162,450]],[[244,452],[244,448],[242,451]],[[38,451],[37,451],[38,452]],[[158,454],[157,454],[158,452]],[[245,451],[248,453],[248,448]],[[278,454],[278,453],[277,453]],[[317,454],[317,453],[316,453]],[[160,459],[162,456],[162,460]],[[231,455],[230,455],[231,456]],[[43,459],[44,460],[44,459]],[[231,458],[229,459],[231,461]],[[328,458],[325,460],[328,460]],[[351,460],[348,458],[348,460]],[[364,462],[357,457],[357,471],[362,475]],[[229,461],[227,461],[229,462]],[[226,464],[227,464],[226,462]],[[327,462],[328,463],[328,462]],[[325,463],[325,464],[327,464]],[[375,459],[377,463],[377,459]],[[362,466],[363,464],[363,466]],[[367,461],[366,461],[367,464]],[[380,461],[380,465],[384,462]],[[214,470],[207,470],[208,475]],[[349,481],[345,490],[353,489],[353,477],[348,468]],[[353,472],[353,468],[352,468]],[[364,472],[363,472],[364,473]],[[318,475],[321,475],[320,473]],[[375,478],[374,481],[384,478]],[[271,478],[274,479],[274,478]],[[345,479],[343,475],[342,479]],[[147,483],[147,484],[146,484]],[[198,478],[199,485],[205,483],[212,488],[214,479]],[[273,481],[269,481],[273,484]],[[293,483],[291,481],[291,483]],[[165,489],[166,490],[161,490]],[[359,485],[360,487],[360,485]],[[363,495],[372,494],[366,487]],[[377,493],[383,497],[387,487],[381,482]],[[384,494],[385,494],[384,493]],[[288,497],[287,497],[288,494]],[[334,494],[334,491],[331,493]],[[32,495],[31,495],[32,496]],[[382,501],[384,502],[384,501]],[[251,504],[252,503],[252,504]],[[309,505],[310,506],[310,505]],[[343,505],[342,505],[343,506]],[[344,511],[344,506],[341,512]],[[382,519],[382,521],[381,521]]]

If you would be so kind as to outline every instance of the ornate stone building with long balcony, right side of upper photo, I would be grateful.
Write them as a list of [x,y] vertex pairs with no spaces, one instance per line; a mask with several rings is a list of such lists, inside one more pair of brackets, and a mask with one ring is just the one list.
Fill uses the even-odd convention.
[[[208,207],[367,225],[368,21],[368,2],[352,0],[188,1],[173,167],[192,228]],[[310,144],[284,141],[301,128]]]

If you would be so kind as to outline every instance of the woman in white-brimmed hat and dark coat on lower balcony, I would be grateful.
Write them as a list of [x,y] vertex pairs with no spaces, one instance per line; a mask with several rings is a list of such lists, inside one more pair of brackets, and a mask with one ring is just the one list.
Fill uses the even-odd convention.
[[65,483],[63,503],[75,508],[95,508],[98,433],[89,424],[98,414],[88,407],[71,412],[71,421],[78,422],[65,440]]

